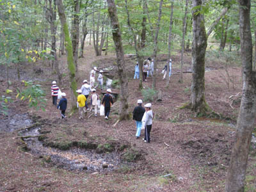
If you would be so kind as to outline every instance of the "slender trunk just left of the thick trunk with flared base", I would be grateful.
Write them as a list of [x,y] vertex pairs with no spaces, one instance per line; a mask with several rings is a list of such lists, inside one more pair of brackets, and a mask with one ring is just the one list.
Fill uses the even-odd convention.
[[188,14],[188,0],[186,0],[185,15],[182,23],[182,41],[181,41],[181,58],[180,58],[181,61],[180,61],[180,79],[179,79],[180,83],[183,83],[183,55],[184,55],[184,49],[185,49],[187,14]]

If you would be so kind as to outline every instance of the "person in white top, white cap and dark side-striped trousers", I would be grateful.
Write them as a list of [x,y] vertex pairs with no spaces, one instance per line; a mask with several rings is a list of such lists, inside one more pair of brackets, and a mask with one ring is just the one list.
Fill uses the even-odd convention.
[[145,104],[146,118],[145,118],[145,138],[143,139],[145,143],[150,143],[150,131],[152,129],[152,121],[154,118],[153,111],[151,110],[151,104]]

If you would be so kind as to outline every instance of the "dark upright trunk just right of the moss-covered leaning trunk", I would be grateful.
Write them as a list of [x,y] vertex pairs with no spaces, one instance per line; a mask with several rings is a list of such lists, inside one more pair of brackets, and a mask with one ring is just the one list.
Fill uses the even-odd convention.
[[81,0],[74,0],[74,15],[72,19],[72,49],[74,63],[76,66],[76,72],[78,70],[77,60],[78,60],[78,46],[79,46],[79,12],[80,12]]

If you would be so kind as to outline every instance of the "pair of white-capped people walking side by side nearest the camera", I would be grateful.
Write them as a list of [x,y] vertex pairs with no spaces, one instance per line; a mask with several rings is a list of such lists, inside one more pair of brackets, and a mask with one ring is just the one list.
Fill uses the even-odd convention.
[[154,118],[154,113],[151,109],[152,104],[145,104],[145,108],[142,106],[142,100],[139,99],[136,106],[132,112],[133,120],[136,121],[136,139],[140,138],[141,129],[145,129],[145,136],[142,140],[144,142],[150,143],[150,131],[152,129],[152,121]]

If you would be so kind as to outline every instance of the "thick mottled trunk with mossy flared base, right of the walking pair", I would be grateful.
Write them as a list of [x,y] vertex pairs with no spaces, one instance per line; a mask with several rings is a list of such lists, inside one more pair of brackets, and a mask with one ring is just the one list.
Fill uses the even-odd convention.
[[207,36],[204,26],[204,15],[200,13],[202,0],[193,0],[193,45],[192,45],[192,83],[190,104],[192,111],[205,113],[205,50]]

